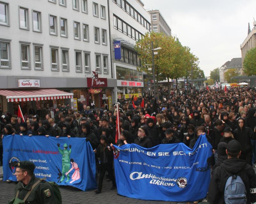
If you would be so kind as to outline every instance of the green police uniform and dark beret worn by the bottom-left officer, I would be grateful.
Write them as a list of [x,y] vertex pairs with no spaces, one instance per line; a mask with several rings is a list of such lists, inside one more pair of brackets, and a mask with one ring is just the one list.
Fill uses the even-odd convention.
[[[35,165],[30,161],[21,161],[16,164],[17,168],[21,169],[35,169]],[[15,188],[16,198],[13,199],[11,203],[23,203],[21,202],[27,193],[31,190],[32,186],[40,180],[33,175],[27,185],[20,181]],[[19,193],[17,193],[19,191]],[[20,199],[20,200],[19,200]],[[45,204],[54,204],[54,191],[51,184],[47,181],[41,180],[31,191],[28,198],[24,203],[45,203]]]

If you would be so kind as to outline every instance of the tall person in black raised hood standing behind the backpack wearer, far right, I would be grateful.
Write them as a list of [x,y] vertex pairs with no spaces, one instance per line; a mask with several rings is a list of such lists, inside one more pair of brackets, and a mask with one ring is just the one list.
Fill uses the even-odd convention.
[[240,159],[244,159],[247,164],[252,164],[252,143],[251,138],[254,132],[252,132],[251,128],[245,127],[244,119],[238,118],[237,120],[238,126],[237,129],[234,130],[234,138],[241,145],[241,155]]

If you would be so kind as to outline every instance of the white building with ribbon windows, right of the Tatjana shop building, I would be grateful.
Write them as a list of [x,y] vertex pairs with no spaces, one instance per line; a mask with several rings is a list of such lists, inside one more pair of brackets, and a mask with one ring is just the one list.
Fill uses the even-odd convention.
[[[109,25],[113,77],[117,79],[115,98],[142,96],[143,73],[136,41],[149,32],[150,14],[140,0],[109,0]],[[115,59],[114,41],[121,43],[121,59]]]

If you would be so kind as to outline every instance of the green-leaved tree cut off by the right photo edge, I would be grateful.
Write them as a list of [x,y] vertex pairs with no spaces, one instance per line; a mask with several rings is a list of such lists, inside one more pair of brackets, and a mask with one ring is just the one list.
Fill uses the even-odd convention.
[[244,73],[248,76],[256,75],[256,47],[250,49],[244,58]]

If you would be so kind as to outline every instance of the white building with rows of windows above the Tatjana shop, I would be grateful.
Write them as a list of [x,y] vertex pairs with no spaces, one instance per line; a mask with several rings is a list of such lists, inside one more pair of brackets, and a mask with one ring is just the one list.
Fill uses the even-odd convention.
[[27,89],[22,80],[37,80],[35,90],[71,93],[69,98],[57,96],[40,103],[21,99],[24,104],[7,103],[3,94],[2,111],[12,112],[17,105],[38,109],[62,103],[70,103],[74,110],[91,103],[105,107],[116,87],[108,25],[108,2],[103,0],[0,0],[0,89],[22,91]]

